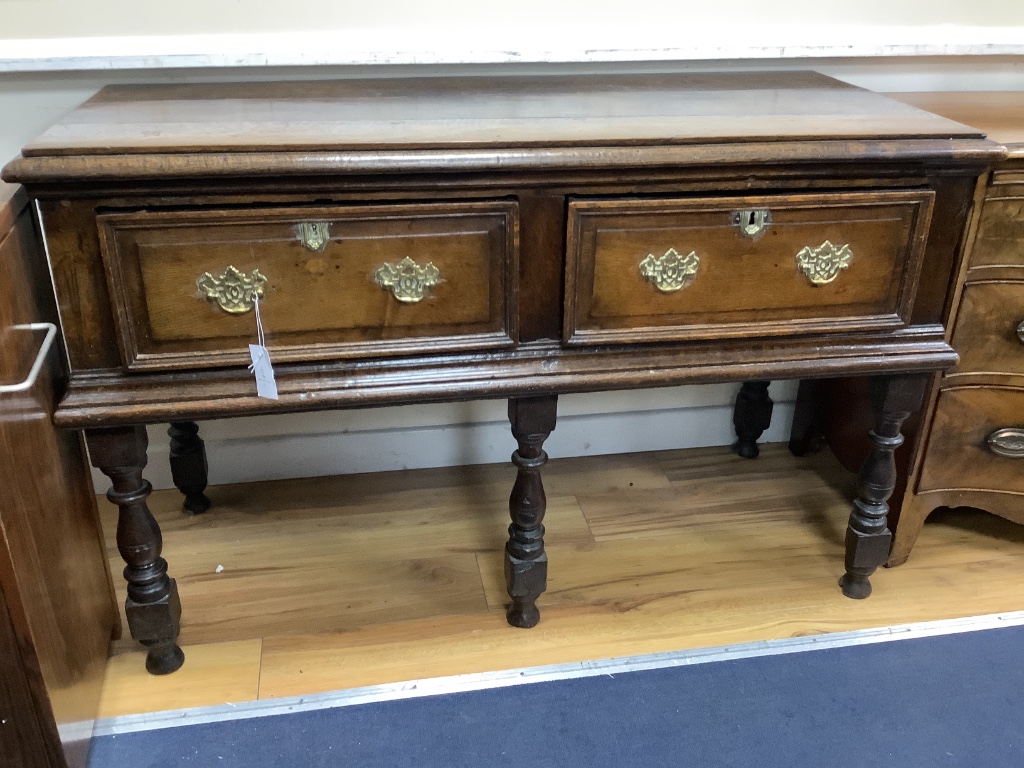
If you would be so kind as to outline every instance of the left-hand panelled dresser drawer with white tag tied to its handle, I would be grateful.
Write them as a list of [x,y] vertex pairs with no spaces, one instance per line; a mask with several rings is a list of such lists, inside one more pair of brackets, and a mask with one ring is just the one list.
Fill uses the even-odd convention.
[[248,365],[254,292],[275,362],[515,343],[508,201],[109,213],[124,364]]

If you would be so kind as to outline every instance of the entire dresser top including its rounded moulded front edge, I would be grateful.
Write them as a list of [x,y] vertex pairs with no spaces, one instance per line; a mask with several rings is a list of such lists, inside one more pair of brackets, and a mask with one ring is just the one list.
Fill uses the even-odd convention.
[[109,86],[3,178],[36,191],[129,179],[1002,157],[977,128],[813,72],[460,77]]

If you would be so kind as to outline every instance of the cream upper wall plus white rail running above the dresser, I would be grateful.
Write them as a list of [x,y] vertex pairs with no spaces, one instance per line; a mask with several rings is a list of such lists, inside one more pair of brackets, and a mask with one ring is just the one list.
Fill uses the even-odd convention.
[[0,71],[1019,54],[1014,0],[0,0]]

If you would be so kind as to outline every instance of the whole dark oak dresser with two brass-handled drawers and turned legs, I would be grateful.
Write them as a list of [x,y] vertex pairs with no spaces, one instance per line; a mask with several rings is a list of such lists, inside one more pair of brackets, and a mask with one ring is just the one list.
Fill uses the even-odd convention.
[[[113,481],[148,668],[182,660],[154,422],[201,509],[193,420],[508,397],[508,617],[530,627],[559,393],[871,376],[842,580],[865,597],[1001,152],[813,73],[103,89],[5,178],[36,200],[72,372],[55,418]],[[247,370],[258,319],[275,399]]]

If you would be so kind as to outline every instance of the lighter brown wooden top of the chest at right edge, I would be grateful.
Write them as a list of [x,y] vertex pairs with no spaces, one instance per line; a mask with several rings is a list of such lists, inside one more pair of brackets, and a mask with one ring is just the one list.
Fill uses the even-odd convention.
[[972,125],[1024,158],[1024,91],[890,93],[892,98]]

